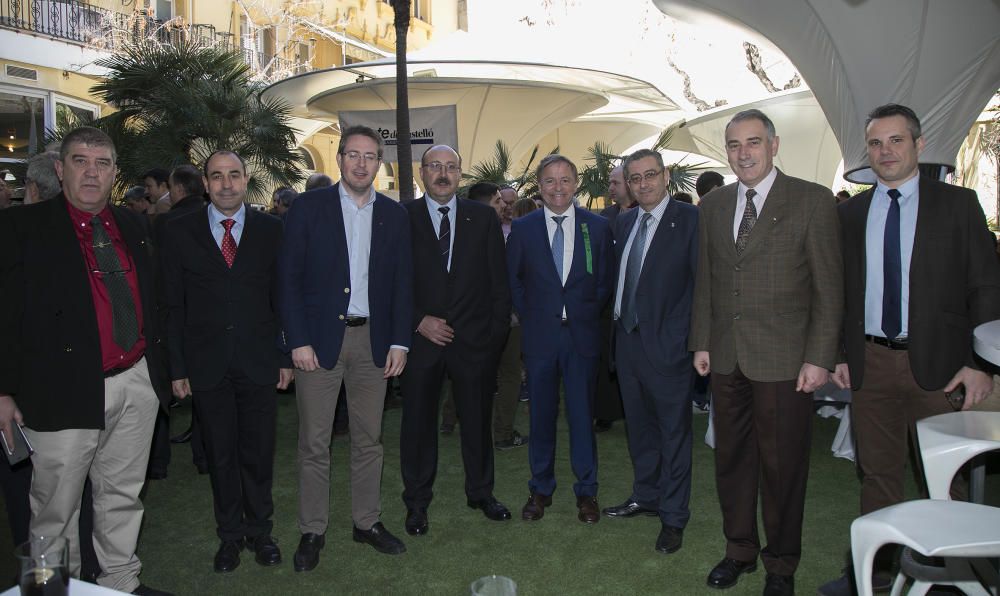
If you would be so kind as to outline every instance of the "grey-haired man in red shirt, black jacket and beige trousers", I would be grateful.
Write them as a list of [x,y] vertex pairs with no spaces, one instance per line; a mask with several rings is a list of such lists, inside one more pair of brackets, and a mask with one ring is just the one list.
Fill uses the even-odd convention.
[[135,555],[157,407],[169,389],[153,316],[152,249],[139,215],[108,204],[115,149],[81,127],[63,139],[63,192],[0,221],[0,430],[34,446],[30,532],[66,536],[79,575],[77,520],[89,476],[97,581],[139,583]]

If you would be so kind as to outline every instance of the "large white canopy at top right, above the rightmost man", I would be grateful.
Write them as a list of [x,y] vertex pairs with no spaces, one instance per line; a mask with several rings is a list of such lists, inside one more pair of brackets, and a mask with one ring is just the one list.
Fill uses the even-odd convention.
[[653,2],[678,19],[757,32],[780,48],[816,95],[844,148],[845,171],[859,182],[873,180],[863,130],[872,108],[913,108],[927,140],[921,161],[953,167],[1000,86],[996,0]]

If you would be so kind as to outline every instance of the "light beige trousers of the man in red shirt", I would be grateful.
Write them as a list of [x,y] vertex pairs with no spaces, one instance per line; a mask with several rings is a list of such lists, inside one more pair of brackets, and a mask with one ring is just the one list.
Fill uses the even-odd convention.
[[25,428],[35,448],[31,535],[65,536],[74,577],[80,574],[80,499],[89,476],[94,492],[94,550],[101,565],[97,583],[121,592],[139,586],[142,563],[135,555],[143,514],[139,491],[158,407],[142,358],[104,381],[104,430]]

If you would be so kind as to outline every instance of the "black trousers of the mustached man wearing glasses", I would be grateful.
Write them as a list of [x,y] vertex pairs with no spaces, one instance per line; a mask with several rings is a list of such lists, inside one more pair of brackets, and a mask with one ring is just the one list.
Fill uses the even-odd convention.
[[403,417],[400,460],[403,502],[407,508],[426,508],[434,496],[438,460],[438,408],[445,375],[451,378],[452,396],[462,441],[465,494],[485,499],[493,494],[493,390],[496,361],[471,362],[455,350],[444,350],[433,363],[403,371]]

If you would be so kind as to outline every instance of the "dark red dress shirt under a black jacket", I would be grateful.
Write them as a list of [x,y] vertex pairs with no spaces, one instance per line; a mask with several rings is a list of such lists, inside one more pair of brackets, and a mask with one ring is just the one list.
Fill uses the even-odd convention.
[[97,259],[94,257],[94,231],[90,225],[90,220],[94,214],[77,209],[70,203],[66,203],[69,209],[70,219],[73,220],[73,229],[76,231],[76,239],[80,242],[80,252],[87,265],[87,275],[90,279],[90,293],[94,298],[94,312],[97,314],[97,329],[101,335],[101,359],[104,363],[104,371],[115,368],[128,368],[139,361],[146,351],[146,338],[143,333],[142,324],[142,300],[139,298],[139,277],[135,272],[135,263],[129,255],[128,246],[122,239],[118,224],[115,223],[111,209],[107,206],[97,215],[104,222],[104,229],[111,239],[115,250],[118,252],[118,260],[126,270],[125,279],[128,281],[129,289],[132,290],[132,301],[135,303],[135,317],[139,325],[139,339],[128,351],[115,343],[112,333],[112,310],[111,299],[108,297],[108,289],[101,279],[98,271]]

